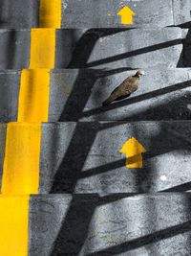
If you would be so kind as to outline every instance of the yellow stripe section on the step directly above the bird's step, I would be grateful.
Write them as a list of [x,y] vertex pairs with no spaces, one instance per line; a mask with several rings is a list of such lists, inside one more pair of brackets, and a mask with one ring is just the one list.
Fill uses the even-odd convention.
[[55,29],[31,30],[31,69],[54,68],[55,31]]

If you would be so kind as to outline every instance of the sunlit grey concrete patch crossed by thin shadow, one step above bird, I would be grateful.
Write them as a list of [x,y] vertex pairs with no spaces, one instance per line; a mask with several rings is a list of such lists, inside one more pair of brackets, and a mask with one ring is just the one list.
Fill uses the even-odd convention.
[[87,67],[177,67],[182,52],[179,28],[129,30],[99,38]]

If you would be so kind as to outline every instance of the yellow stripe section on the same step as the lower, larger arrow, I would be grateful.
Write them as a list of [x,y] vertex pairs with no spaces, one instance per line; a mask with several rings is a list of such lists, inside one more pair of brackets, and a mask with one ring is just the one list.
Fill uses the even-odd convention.
[[10,123],[7,127],[2,194],[37,194],[41,125]]

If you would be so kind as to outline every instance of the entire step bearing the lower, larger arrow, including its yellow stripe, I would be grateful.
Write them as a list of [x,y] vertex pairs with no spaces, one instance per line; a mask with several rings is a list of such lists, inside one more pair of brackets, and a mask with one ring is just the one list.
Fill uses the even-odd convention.
[[[190,136],[191,122],[2,124],[1,191],[100,195],[189,191]],[[130,145],[126,154],[119,153],[132,137],[146,150],[140,169],[126,166],[137,163]],[[139,153],[138,145],[134,149]]]

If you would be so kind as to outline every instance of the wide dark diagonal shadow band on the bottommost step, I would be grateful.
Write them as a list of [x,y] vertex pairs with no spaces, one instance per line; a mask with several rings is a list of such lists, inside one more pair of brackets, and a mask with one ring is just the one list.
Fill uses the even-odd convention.
[[[91,197],[91,199],[89,199]],[[86,241],[98,196],[74,195],[50,256],[79,255]],[[84,218],[85,217],[85,218]],[[68,254],[69,253],[69,254]]]

